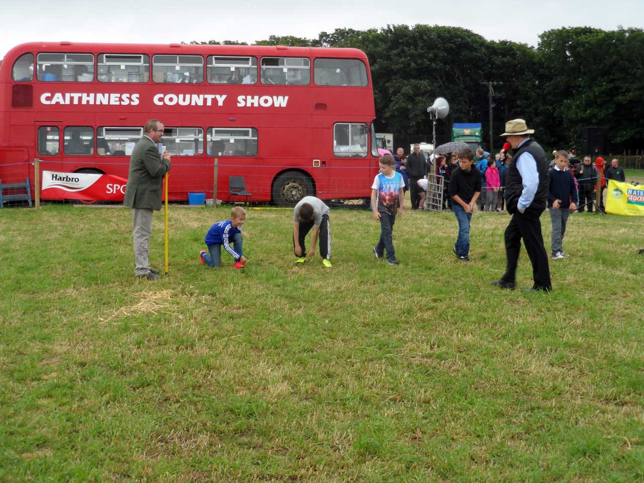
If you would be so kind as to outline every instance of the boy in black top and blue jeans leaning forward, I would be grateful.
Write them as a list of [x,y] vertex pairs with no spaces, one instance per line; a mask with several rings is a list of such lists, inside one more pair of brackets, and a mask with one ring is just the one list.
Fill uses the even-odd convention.
[[459,222],[459,236],[454,253],[460,261],[469,261],[469,222],[481,194],[481,173],[474,166],[474,153],[469,147],[459,151],[459,167],[450,175],[452,209]]

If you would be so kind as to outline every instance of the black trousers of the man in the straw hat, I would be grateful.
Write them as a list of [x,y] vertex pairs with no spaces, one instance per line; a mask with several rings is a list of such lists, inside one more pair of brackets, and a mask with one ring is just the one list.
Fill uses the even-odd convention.
[[532,276],[535,281],[533,289],[552,290],[550,281],[550,267],[548,265],[548,254],[544,247],[544,237],[541,234],[541,222],[539,213],[519,213],[512,215],[509,225],[506,228],[506,273],[501,277],[504,282],[515,283],[516,265],[519,261],[521,250],[521,239],[526,245],[527,256],[532,263]]

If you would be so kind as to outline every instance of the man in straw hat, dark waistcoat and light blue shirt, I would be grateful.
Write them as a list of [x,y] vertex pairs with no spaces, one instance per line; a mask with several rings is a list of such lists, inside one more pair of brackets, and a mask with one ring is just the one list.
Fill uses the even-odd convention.
[[501,135],[514,149],[506,174],[506,207],[512,220],[505,233],[506,272],[493,284],[501,289],[515,288],[516,265],[523,239],[534,278],[533,287],[527,290],[549,292],[553,287],[539,220],[548,198],[548,160],[542,147],[529,137],[534,132],[527,128],[526,121],[515,119],[506,122],[506,132]]

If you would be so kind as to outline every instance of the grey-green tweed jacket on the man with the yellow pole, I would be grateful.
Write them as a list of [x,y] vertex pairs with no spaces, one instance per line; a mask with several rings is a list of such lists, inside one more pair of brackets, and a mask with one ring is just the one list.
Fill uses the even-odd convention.
[[161,157],[156,144],[145,136],[140,138],[129,158],[123,204],[130,208],[160,210],[163,176],[168,171],[170,162]]

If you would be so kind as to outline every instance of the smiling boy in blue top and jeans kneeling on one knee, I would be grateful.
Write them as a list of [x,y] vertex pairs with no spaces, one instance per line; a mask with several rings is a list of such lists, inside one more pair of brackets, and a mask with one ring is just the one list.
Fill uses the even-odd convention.
[[[245,221],[245,209],[236,206],[231,210],[230,220],[214,223],[205,236],[208,252],[205,250],[200,252],[200,263],[207,263],[209,267],[220,267],[222,265],[223,245],[223,248],[235,259],[235,268],[243,269],[248,261],[242,254],[242,225]],[[231,248],[230,242],[232,242],[234,249]]]

